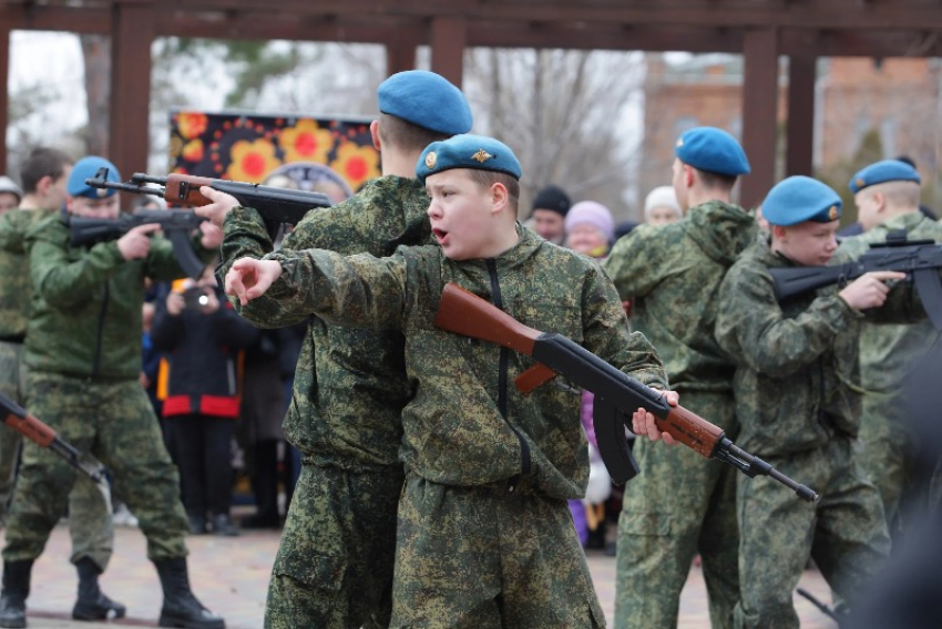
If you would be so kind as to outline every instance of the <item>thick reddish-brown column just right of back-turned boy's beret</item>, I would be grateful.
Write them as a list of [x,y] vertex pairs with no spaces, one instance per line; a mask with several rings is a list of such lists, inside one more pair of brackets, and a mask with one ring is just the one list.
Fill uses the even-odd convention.
[[747,32],[743,53],[743,148],[752,172],[743,178],[739,203],[749,208],[761,203],[775,184],[778,31]]

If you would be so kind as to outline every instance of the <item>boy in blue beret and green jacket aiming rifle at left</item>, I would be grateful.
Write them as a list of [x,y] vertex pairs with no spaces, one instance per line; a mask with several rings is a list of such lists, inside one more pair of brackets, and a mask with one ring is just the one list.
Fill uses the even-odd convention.
[[[114,192],[84,183],[100,167],[109,168],[111,181],[120,181],[106,159],[79,161],[66,187],[69,213],[117,217]],[[65,441],[107,466],[147,537],[147,556],[164,590],[161,625],[222,629],[223,619],[199,605],[190,589],[180,477],[137,381],[144,278],[166,281],[184,274],[170,241],[151,236],[158,225],[135,227],[117,240],[72,246],[66,216],[49,216],[27,234],[32,280],[25,343],[28,408]],[[209,259],[222,234],[215,226],[205,231],[207,248],[201,254]],[[62,458],[32,442],[24,444],[7,523],[0,627],[25,627],[33,561],[74,481],[75,471]],[[103,567],[89,569],[96,576]]]

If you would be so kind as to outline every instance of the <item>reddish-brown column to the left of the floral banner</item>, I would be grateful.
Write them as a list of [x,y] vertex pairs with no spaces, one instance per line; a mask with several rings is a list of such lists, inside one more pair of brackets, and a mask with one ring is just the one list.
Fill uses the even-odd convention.
[[116,3],[113,11],[109,158],[127,178],[147,169],[154,13],[149,4]]

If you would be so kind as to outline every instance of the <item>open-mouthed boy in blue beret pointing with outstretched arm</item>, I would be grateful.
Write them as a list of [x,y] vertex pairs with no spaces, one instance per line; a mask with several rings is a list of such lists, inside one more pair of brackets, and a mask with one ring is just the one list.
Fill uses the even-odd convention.
[[[532,359],[432,321],[454,281],[664,388],[659,360],[628,333],[597,264],[515,223],[520,164],[506,146],[459,135],[429,145],[417,173],[438,246],[379,260],[317,249],[245,258],[228,272],[227,291],[246,301],[278,279],[272,293],[301,310],[406,336],[414,396],[402,412],[390,627],[602,627],[566,505],[588,476],[580,395],[556,386],[520,394],[512,380]],[[658,439],[644,415],[635,414],[635,427],[646,419]]]

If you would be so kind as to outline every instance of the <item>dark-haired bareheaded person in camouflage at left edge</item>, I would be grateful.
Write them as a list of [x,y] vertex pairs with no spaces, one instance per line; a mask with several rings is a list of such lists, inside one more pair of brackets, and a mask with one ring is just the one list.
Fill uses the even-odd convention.
[[[19,207],[0,217],[0,392],[25,405],[27,365],[23,342],[30,305],[25,234],[65,203],[72,159],[54,148],[33,149],[20,171],[25,193]],[[0,520],[13,491],[22,437],[0,426]],[[114,547],[110,501],[98,485],[80,478],[69,493],[72,563],[79,573],[79,598],[72,617],[82,620],[121,618],[124,606],[102,594],[98,584]]]

